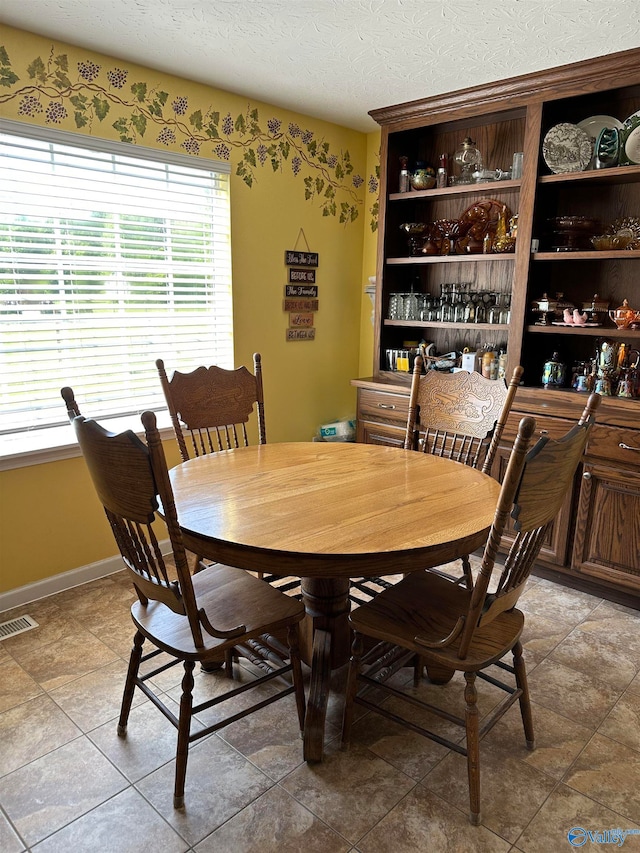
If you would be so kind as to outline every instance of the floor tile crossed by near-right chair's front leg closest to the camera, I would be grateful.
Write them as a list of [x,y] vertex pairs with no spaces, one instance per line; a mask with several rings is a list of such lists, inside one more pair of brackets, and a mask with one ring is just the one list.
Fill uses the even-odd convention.
[[[450,753],[422,781],[429,790],[469,814],[467,759]],[[524,761],[480,744],[480,810],[483,826],[512,844],[549,796],[554,780]]]

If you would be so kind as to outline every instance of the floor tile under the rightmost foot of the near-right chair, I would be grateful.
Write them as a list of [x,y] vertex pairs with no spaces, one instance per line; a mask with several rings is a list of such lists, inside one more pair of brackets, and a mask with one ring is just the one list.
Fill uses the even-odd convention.
[[504,751],[530,767],[561,779],[584,749],[593,731],[548,708],[531,703],[536,748],[527,749],[519,705],[510,708],[482,741],[492,750]]

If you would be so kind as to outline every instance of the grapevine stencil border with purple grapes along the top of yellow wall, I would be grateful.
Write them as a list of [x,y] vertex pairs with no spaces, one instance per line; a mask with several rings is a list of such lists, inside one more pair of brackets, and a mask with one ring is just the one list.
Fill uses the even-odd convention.
[[[89,133],[96,122],[110,121],[120,141],[132,145],[155,134],[155,142],[167,148],[182,148],[196,157],[209,151],[234,163],[235,174],[249,188],[259,169],[271,166],[284,173],[289,168],[294,178],[301,177],[305,200],[319,206],[323,216],[338,217],[346,225],[360,214],[365,181],[354,172],[349,151],[332,152],[329,142],[295,122],[285,126],[271,116],[265,127],[251,104],[235,117],[213,107],[190,109],[186,95],[172,97],[159,86],[130,83],[126,68],[84,59],[72,69],[67,54],[53,45],[46,62],[37,56],[27,66],[27,75],[25,84],[0,46],[0,86],[12,89],[0,94],[0,105],[17,100],[21,119],[44,117],[50,125],[73,119],[78,130]],[[378,221],[378,187],[379,166],[367,181],[368,192],[376,195],[368,209],[372,231]]]

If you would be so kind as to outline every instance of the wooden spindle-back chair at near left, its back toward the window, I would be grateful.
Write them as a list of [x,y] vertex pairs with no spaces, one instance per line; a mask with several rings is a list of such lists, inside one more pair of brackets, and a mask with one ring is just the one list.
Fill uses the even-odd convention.
[[[65,393],[67,400],[73,399],[71,389],[65,389]],[[193,741],[291,693],[295,693],[302,730],[305,696],[298,655],[298,623],[304,617],[304,607],[242,569],[215,564],[206,572],[190,574],[152,412],[142,415],[145,443],[131,430],[119,434],[107,432],[96,421],[77,416],[73,407],[69,408],[91,479],[138,596],[131,607],[136,632],[118,734],[126,735],[137,687],[178,730],[173,804],[181,808],[188,749]],[[169,534],[175,573],[157,539],[155,521],[159,507]],[[281,640],[284,636],[286,645]],[[151,650],[143,654],[145,642]],[[161,653],[170,656],[171,663],[167,665],[161,659],[151,671],[140,674],[141,664]],[[250,684],[231,686],[224,694],[194,705],[195,664],[200,662],[206,667],[224,660],[227,675],[233,679],[233,661],[237,657],[258,663],[264,674]],[[179,663],[183,664],[184,675],[176,718],[173,709],[154,691],[153,678]],[[283,682],[277,691],[268,694],[258,691],[258,699],[250,707],[229,713],[204,728],[192,728],[194,715],[274,679]],[[214,767],[211,772],[215,772]]]

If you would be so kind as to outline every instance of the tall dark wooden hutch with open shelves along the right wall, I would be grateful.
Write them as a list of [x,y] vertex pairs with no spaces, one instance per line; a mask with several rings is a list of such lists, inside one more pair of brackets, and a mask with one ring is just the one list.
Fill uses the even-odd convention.
[[[542,387],[543,364],[553,352],[568,365],[569,385],[572,364],[592,358],[602,339],[640,349],[640,331],[619,330],[606,314],[601,326],[577,328],[539,325],[540,315],[532,311],[543,294],[556,293],[578,307],[598,294],[611,308],[626,298],[640,309],[640,250],[558,251],[549,236],[555,217],[597,219],[603,230],[627,218],[640,227],[640,165],[554,173],[542,153],[547,133],[558,124],[575,126],[589,118],[597,124],[602,116],[624,122],[638,110],[640,49],[371,112],[382,128],[375,352],[374,375],[353,380],[358,441],[402,443],[410,375],[390,370],[386,351],[405,341],[433,343],[437,353],[475,350],[487,342],[505,346],[507,375],[517,364],[524,367],[507,441],[524,414],[536,417],[541,432],[559,436],[582,411],[584,394]],[[628,127],[629,122],[620,132],[623,152]],[[465,137],[480,150],[484,169],[507,170],[513,153],[524,152],[522,177],[398,192],[401,157],[410,167],[416,161],[437,167],[447,152],[451,164]],[[488,199],[518,214],[515,251],[410,254],[401,224],[458,219]],[[539,241],[537,251],[532,240]],[[388,319],[391,294],[413,285],[420,294],[436,296],[451,282],[510,298],[508,322]],[[505,444],[498,464],[508,452]],[[539,565],[561,582],[640,606],[640,399],[603,399],[575,488]]]

